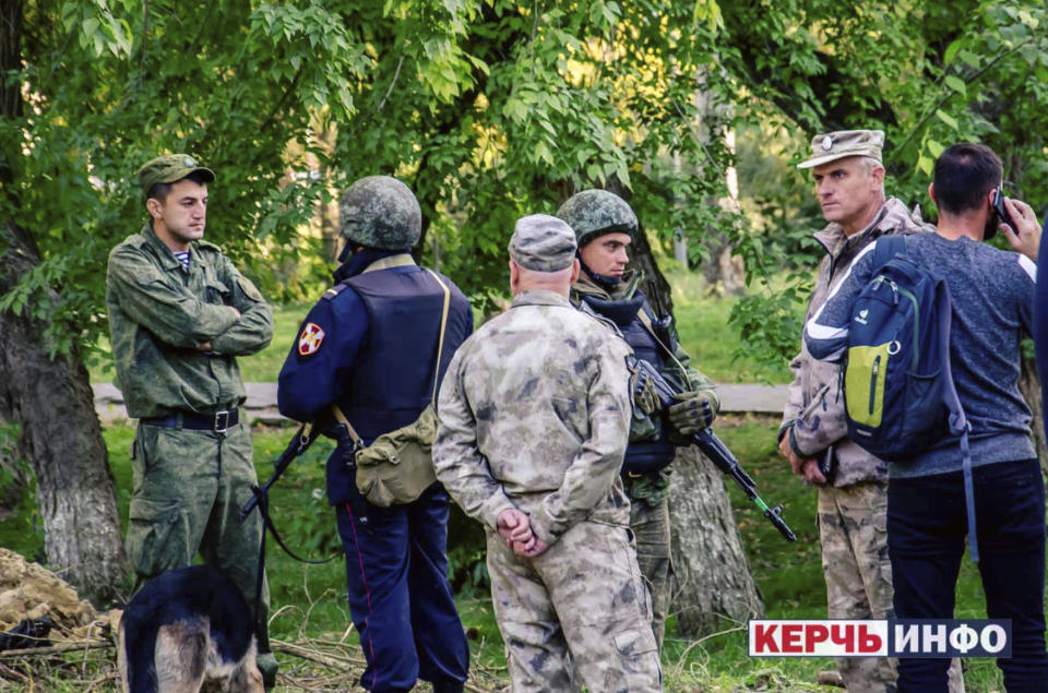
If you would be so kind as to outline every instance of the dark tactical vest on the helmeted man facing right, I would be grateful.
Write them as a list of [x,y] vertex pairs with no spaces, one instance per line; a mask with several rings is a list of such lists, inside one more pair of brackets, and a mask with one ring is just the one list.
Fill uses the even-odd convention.
[[[647,299],[643,298],[643,295],[640,292],[638,292],[638,296],[643,299],[638,303],[638,309],[647,312]],[[582,300],[584,300],[594,312],[616,321],[622,336],[627,343],[633,347],[633,354],[636,355],[636,358],[654,365],[660,373],[665,371],[666,359],[663,355],[663,349],[658,346],[658,343],[655,342],[654,337],[652,337],[651,333],[644,326],[644,323],[641,322],[641,319],[636,314],[636,309],[631,311],[632,320],[629,320],[629,322],[622,319],[621,311],[614,310],[612,304],[630,302],[628,299],[607,301],[600,299],[593,300],[590,296],[583,296]],[[616,320],[616,318],[618,318],[618,320]],[[666,425],[657,417],[653,418],[652,421],[655,425],[655,430],[651,435],[644,440],[630,440],[630,444],[626,449],[626,457],[622,461],[622,474],[648,474],[658,471],[674,461],[677,450],[667,439]]]

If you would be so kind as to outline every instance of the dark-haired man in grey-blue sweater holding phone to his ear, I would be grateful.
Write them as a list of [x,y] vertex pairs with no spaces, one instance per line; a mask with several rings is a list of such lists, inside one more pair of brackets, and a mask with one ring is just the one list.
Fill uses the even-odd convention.
[[[910,270],[904,268],[910,275],[932,277],[949,290],[948,311],[940,303],[921,308],[936,310],[949,328],[949,345],[939,350],[943,374],[928,380],[953,405],[938,435],[890,464],[889,553],[895,617],[949,619],[965,535],[974,533],[987,613],[1012,622],[1012,656],[998,660],[1004,685],[1045,691],[1045,488],[1031,440],[1029,407],[1017,385],[1020,342],[1032,328],[1040,227],[1028,205],[1012,200],[1001,207],[1015,228],[1001,223],[995,211],[1001,179],[1001,160],[988,147],[948,148],[936,162],[928,189],[939,207],[937,232],[906,238],[891,259],[895,266],[910,263]],[[998,228],[1016,252],[981,242]],[[876,278],[885,264],[884,253],[877,252],[879,242],[858,254],[808,321],[805,338],[814,358],[845,356],[849,330],[858,331],[873,318],[861,310],[853,313],[853,308],[874,285],[886,284],[903,304],[912,300],[893,280]],[[871,403],[895,386],[886,382],[893,377],[892,359],[905,357],[906,348],[889,343],[884,369],[873,375],[881,380],[868,387]],[[954,390],[955,396],[949,396]],[[883,399],[882,418],[897,415]],[[898,690],[944,691],[946,667],[943,659],[901,659]]]

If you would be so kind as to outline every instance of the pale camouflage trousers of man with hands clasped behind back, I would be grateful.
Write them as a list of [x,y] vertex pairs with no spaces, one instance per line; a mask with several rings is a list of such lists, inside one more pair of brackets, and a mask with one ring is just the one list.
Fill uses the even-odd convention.
[[626,527],[581,522],[533,559],[489,530],[488,573],[514,693],[662,690],[647,590]]

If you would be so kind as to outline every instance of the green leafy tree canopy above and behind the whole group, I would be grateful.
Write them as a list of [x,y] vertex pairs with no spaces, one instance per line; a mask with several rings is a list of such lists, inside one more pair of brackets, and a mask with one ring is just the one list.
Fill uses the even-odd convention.
[[[890,193],[910,204],[927,207],[931,162],[962,140],[1002,155],[1015,195],[1048,200],[1035,0],[22,4],[0,219],[29,229],[44,262],[2,308],[46,318],[55,353],[104,331],[105,259],[144,223],[133,176],[162,152],[217,171],[209,238],[272,296],[315,288],[277,268],[315,253],[297,229],[317,205],[371,174],[416,190],[425,247],[438,239],[475,292],[503,285],[517,216],[594,184],[631,191],[664,239],[726,234],[760,282],[812,230],[791,164],[818,131],[883,128]],[[787,164],[781,180],[742,180],[761,223],[718,204],[737,163],[728,132]],[[46,288],[57,307],[36,300]],[[750,348],[795,347],[783,321],[802,292],[798,277],[740,306]]]

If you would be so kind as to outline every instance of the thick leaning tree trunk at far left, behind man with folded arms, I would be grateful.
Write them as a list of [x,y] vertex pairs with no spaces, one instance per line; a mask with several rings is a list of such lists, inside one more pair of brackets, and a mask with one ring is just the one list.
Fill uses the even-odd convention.
[[[8,248],[0,255],[2,295],[39,254],[24,229],[4,224],[0,236]],[[75,349],[50,359],[44,330],[26,310],[0,313],[0,416],[22,427],[50,567],[103,606],[128,574],[108,454],[87,369]]]

